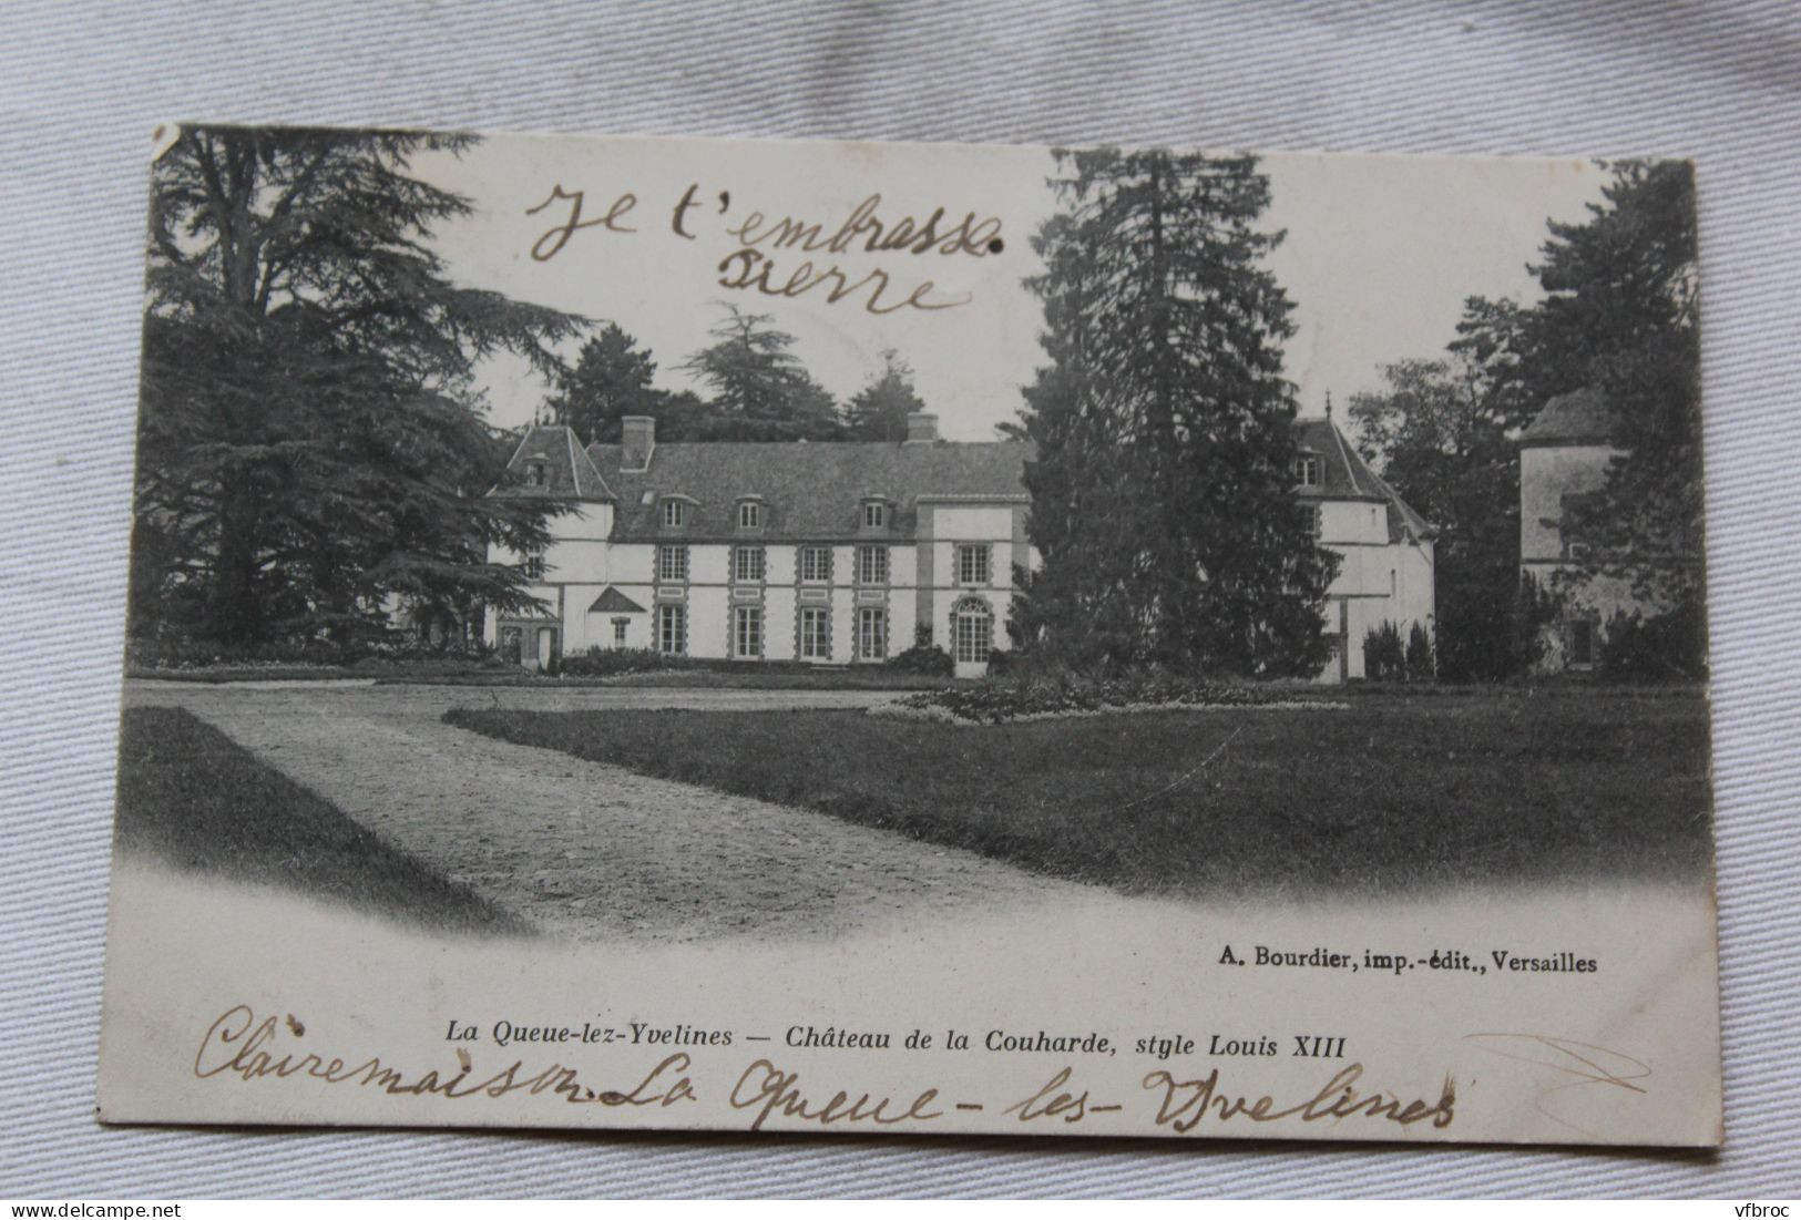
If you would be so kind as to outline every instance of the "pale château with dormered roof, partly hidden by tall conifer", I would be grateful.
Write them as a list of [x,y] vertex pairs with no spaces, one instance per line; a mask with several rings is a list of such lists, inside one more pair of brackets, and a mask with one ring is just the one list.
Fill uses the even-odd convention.
[[[1344,556],[1338,637],[1322,680],[1362,677],[1365,624],[1432,623],[1430,529],[1329,421],[1299,421],[1297,495]],[[1009,648],[1014,567],[1027,540],[1032,446],[938,439],[908,417],[902,443],[659,444],[627,417],[620,444],[566,426],[526,432],[493,495],[555,498],[540,554],[522,563],[542,615],[488,610],[486,639],[528,668],[589,648],[652,648],[744,662],[879,664],[944,648],[958,677]]]

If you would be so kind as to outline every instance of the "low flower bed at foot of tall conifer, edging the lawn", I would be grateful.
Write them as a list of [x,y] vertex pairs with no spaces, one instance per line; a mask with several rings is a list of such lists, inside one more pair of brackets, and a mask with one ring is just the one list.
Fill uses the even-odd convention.
[[998,725],[1180,707],[1293,707],[1299,704],[1308,707],[1342,705],[1297,698],[1297,693],[1286,687],[1145,673],[1115,678],[1061,675],[1055,678],[992,680],[980,686],[910,695],[893,704],[872,707],[870,714],[951,725]]

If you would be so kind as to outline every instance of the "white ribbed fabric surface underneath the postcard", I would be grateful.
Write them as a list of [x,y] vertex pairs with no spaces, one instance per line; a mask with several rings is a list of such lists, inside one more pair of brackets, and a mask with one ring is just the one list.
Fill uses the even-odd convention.
[[[1781,0],[0,5],[0,1195],[1796,1195],[1797,94]],[[144,162],[171,117],[1693,155],[1725,1152],[99,1128]]]

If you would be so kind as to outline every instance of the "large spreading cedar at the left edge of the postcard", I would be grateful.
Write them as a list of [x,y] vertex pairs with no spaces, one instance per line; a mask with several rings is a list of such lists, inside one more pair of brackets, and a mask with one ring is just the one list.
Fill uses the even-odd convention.
[[546,538],[483,498],[506,464],[472,372],[557,367],[582,318],[459,288],[430,250],[461,196],[409,176],[463,135],[187,128],[151,178],[135,630],[337,637],[384,596],[529,603],[486,543]]

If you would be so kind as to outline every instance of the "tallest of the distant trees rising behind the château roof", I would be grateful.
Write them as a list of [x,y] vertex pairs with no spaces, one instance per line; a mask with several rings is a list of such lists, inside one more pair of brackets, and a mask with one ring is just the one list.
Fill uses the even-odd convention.
[[767,313],[726,306],[711,331],[719,340],[683,365],[711,387],[702,425],[710,441],[836,441],[843,435],[837,403],[789,351],[794,336],[771,326]]

